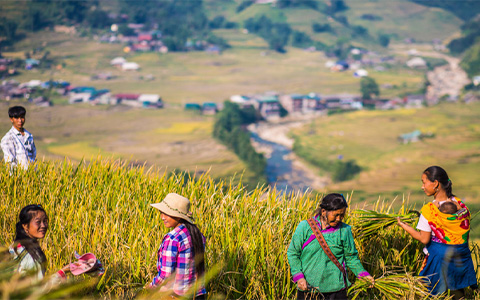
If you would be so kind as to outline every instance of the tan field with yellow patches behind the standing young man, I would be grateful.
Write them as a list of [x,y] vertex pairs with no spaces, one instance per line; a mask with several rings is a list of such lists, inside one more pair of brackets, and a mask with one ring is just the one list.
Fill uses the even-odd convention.
[[[7,104],[0,105],[2,135],[11,127]],[[24,105],[24,104],[23,104]],[[244,164],[211,137],[212,117],[183,109],[133,109],[125,106],[27,106],[25,128],[32,132],[38,158],[73,161],[103,157],[157,168],[241,174]]]

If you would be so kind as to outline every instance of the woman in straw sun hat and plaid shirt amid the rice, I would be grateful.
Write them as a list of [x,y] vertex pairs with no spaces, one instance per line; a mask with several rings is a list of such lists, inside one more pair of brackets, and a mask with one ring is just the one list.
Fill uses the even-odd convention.
[[[161,286],[160,290],[172,291],[173,296],[185,296],[197,285],[194,298],[206,299],[203,282],[197,283],[205,273],[205,237],[194,223],[190,201],[170,193],[151,206],[161,212],[163,224],[172,230],[158,249],[158,274],[149,286]],[[175,278],[170,282],[167,279],[171,276]]]

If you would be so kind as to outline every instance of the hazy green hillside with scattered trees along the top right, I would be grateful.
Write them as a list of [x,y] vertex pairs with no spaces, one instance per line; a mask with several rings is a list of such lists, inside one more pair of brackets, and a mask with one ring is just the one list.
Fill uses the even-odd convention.
[[[381,2],[346,0],[344,3],[348,9],[336,13],[334,18],[322,9],[315,10],[304,6],[279,8],[271,4],[252,4],[237,12],[240,3],[241,1],[225,1],[220,5],[218,1],[205,0],[204,7],[209,18],[222,15],[239,26],[243,26],[248,18],[265,15],[274,22],[288,23],[292,29],[305,32],[313,40],[326,45],[334,45],[338,38],[344,38],[357,46],[377,47],[376,40],[379,34],[390,35],[396,41],[405,38],[420,42],[443,40],[456,33],[463,23],[462,19],[448,10],[408,0]],[[317,3],[319,6],[324,5],[323,1]],[[340,23],[336,19],[338,16],[345,16],[348,24]],[[312,30],[313,23],[329,24],[333,32],[315,33]],[[352,38],[355,26],[366,28],[368,35]],[[227,35],[224,37],[228,40]]]

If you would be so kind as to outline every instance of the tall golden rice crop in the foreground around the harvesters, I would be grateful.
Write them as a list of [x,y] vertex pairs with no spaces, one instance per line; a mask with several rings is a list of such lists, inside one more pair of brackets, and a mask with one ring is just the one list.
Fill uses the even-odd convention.
[[[4,232],[0,245],[12,242],[20,209],[41,204],[50,218],[42,242],[49,274],[72,260],[74,251],[93,252],[106,273],[88,284],[81,296],[144,298],[143,286],[155,274],[157,248],[167,232],[150,204],[176,192],[191,199],[198,226],[207,238],[207,268],[213,270],[208,299],[291,299],[295,285],[286,249],[297,224],[311,216],[320,199],[308,194],[282,196],[261,187],[247,192],[232,182],[214,182],[208,174],[192,178],[128,167],[126,162],[100,158],[88,164],[40,162],[35,169],[12,174],[0,164],[0,229]],[[395,213],[406,214],[407,209],[405,204]],[[392,212],[385,203],[377,203],[375,211]],[[388,214],[381,218],[385,226],[376,222],[378,230],[368,240],[355,231],[360,258],[377,283],[367,288],[357,281],[350,296],[426,299],[424,288],[413,277],[422,247],[396,226],[388,226]],[[350,211],[345,222],[362,230],[369,226],[362,223],[360,211]],[[478,246],[472,247],[478,258]],[[0,293],[8,299],[4,294],[8,285],[2,280]],[[480,299],[472,291],[468,295]]]

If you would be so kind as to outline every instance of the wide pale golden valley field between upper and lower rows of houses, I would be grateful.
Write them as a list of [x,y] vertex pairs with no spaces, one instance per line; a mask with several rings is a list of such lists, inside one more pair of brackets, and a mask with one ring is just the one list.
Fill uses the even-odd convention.
[[[266,91],[279,93],[359,94],[359,79],[353,71],[331,72],[321,52],[306,52],[288,48],[285,54],[268,50],[256,35],[237,30],[218,30],[216,34],[231,41],[232,49],[221,55],[206,52],[183,53],[124,53],[123,45],[102,44],[90,38],[80,38],[53,32],[39,32],[20,41],[15,49],[2,54],[24,58],[25,51],[42,48],[61,69],[21,71],[15,79],[63,79],[74,86],[94,86],[112,93],[155,93],[167,105],[187,102],[223,102],[234,94],[254,94]],[[81,46],[80,46],[81,45]],[[123,72],[110,66],[111,59],[123,56],[140,65],[139,71]],[[379,72],[368,69],[385,97],[416,92],[423,84],[423,71],[403,67]],[[111,73],[112,80],[91,80],[99,73]],[[147,80],[148,78],[148,80]]]

